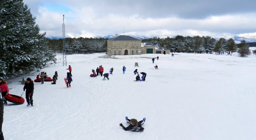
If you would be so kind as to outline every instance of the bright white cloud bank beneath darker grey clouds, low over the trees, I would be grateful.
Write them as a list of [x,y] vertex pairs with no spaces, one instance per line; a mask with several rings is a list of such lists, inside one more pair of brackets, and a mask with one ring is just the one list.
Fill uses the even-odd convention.
[[123,29],[125,34],[147,36],[212,37],[230,37],[256,31],[256,13],[252,12],[191,19],[177,16],[144,17],[140,13],[125,15],[117,10],[99,11],[99,7],[96,8],[92,4],[87,7],[71,5],[69,8],[71,12],[62,13],[40,6],[34,15],[40,30],[47,32],[46,36],[62,36],[62,15],[65,14],[66,34],[70,37],[123,34]]

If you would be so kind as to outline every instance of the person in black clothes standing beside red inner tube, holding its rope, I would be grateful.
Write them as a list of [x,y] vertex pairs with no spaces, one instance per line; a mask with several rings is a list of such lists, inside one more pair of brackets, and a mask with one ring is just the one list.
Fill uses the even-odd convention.
[[34,93],[34,83],[33,80],[31,80],[30,78],[27,78],[26,83],[23,87],[23,91],[25,91],[26,89],[26,100],[29,106],[31,104],[31,106],[33,105],[33,93]]

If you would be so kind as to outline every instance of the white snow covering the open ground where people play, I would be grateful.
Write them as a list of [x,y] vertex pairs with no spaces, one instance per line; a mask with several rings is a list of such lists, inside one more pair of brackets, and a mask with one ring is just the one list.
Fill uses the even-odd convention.
[[[56,57],[56,64],[41,70],[50,77],[58,71],[56,85],[34,83],[33,107],[26,102],[4,106],[5,140],[256,139],[253,55],[67,55],[70,88],[64,84],[68,66],[62,66],[62,55]],[[134,67],[135,62],[140,67]],[[114,68],[110,80],[89,77],[99,65],[104,73]],[[147,73],[145,82],[134,82],[135,69]],[[18,81],[36,79],[38,73],[7,80],[10,94],[22,95],[24,85]],[[144,132],[124,131],[119,123],[128,126],[125,116],[146,117]]]

